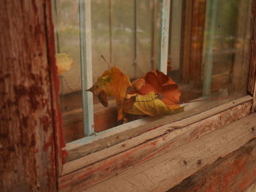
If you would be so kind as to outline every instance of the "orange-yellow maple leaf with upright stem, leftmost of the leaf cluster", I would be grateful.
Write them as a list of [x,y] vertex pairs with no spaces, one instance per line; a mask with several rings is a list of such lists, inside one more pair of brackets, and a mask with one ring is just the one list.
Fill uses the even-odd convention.
[[124,98],[127,94],[127,88],[131,86],[129,77],[116,66],[113,66],[98,77],[97,82],[87,91],[94,93],[105,107],[108,107],[107,96],[114,96],[118,108],[117,119],[121,120],[124,118]]

